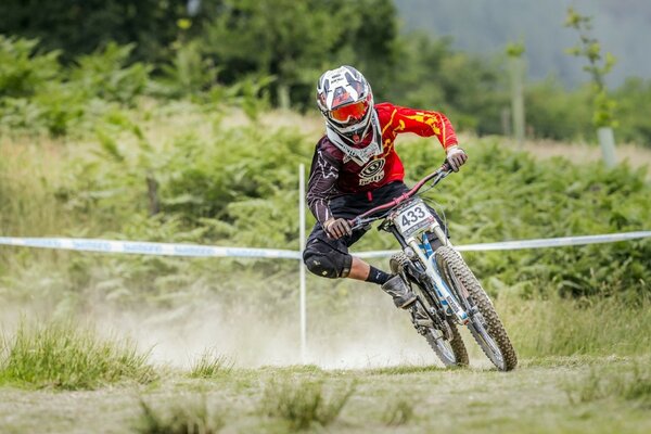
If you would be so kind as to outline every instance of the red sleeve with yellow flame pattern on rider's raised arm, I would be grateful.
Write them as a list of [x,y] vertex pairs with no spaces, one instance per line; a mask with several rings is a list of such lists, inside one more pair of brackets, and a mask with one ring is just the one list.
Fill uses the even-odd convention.
[[444,149],[458,144],[450,120],[439,112],[394,106],[391,122],[385,128],[396,132],[414,132],[421,137],[436,136]]

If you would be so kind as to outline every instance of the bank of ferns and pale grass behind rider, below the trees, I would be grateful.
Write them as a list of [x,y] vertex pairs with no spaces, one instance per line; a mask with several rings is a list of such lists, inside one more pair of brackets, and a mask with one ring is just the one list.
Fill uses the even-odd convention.
[[[309,164],[314,136],[260,128],[273,124],[265,117],[233,125],[233,119],[193,103],[161,108],[143,102],[99,124],[94,138],[89,135],[85,144],[64,152],[28,153],[26,158],[27,151],[8,153],[11,157],[0,164],[2,233],[298,246],[296,168]],[[167,129],[161,131],[162,126]],[[443,158],[423,139],[401,139],[398,145],[408,182]],[[40,146],[26,148],[39,153]],[[467,149],[468,167],[431,194],[456,244],[634,231],[648,229],[651,221],[651,186],[643,169],[534,159],[496,139],[473,139]],[[355,248],[395,247],[391,237],[371,231]],[[97,299],[117,306],[177,306],[238,289],[244,292],[237,299],[268,301],[273,310],[295,291],[294,261],[3,248],[1,296],[53,303],[62,312]],[[637,304],[650,292],[650,240],[465,256],[497,296],[616,295]],[[355,283],[310,281],[326,304],[333,303],[326,291],[333,285],[346,294]],[[256,290],[250,291],[252,286]]]

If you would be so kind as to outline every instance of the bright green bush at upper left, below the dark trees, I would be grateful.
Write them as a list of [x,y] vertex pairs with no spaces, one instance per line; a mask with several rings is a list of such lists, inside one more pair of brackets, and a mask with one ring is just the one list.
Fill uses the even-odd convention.
[[38,54],[37,43],[0,35],[0,127],[12,133],[93,129],[112,103],[135,104],[149,85],[151,66],[127,65],[133,46],[108,43],[63,68],[59,52]]

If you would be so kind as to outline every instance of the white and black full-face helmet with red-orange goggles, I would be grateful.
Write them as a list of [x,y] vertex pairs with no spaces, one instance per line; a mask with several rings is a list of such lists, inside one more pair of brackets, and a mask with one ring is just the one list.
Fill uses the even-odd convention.
[[[373,110],[373,92],[363,75],[353,66],[327,71],[317,85],[317,105],[326,117],[328,137],[353,159],[366,163],[381,153],[380,123]],[[372,140],[358,145],[372,127]]]

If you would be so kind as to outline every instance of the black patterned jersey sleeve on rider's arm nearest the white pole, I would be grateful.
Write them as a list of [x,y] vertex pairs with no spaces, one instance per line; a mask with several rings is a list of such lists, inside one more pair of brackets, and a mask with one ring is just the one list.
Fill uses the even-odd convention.
[[332,217],[329,202],[336,194],[339,174],[340,163],[317,146],[307,182],[307,206],[321,225]]

